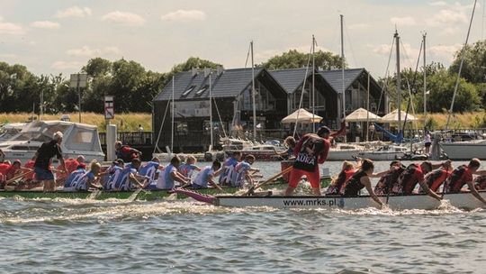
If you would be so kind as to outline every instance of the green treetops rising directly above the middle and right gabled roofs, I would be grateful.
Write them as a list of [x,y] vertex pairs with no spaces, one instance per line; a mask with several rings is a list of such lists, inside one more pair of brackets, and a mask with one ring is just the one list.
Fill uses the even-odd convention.
[[[307,67],[310,53],[302,53],[297,50],[289,50],[282,55],[276,55],[259,66],[268,69],[304,68]],[[314,54],[317,68],[333,69],[342,68],[341,57],[329,51],[319,50]],[[345,68],[347,67],[345,63]]]

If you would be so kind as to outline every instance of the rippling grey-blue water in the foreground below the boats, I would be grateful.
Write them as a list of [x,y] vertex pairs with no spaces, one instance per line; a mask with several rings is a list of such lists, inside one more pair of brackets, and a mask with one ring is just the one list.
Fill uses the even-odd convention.
[[[256,165],[266,177],[278,172],[278,163]],[[340,165],[326,164],[331,173]],[[190,199],[2,199],[0,272],[485,273],[485,217],[451,206],[326,211]]]

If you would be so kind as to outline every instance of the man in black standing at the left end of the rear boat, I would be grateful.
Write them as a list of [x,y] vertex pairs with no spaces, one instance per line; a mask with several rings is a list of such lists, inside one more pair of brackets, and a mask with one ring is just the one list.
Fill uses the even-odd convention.
[[64,167],[62,172],[67,172],[66,164],[62,158],[60,143],[62,142],[62,132],[55,132],[52,140],[42,143],[39,150],[35,152],[34,172],[35,177],[44,185],[44,192],[55,190],[55,179],[52,170],[49,168],[50,159],[56,156]]

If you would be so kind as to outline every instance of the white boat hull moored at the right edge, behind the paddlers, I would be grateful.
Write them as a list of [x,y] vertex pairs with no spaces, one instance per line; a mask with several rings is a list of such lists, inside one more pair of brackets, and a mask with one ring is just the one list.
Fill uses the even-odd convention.
[[486,160],[486,140],[440,142],[440,147],[450,160]]

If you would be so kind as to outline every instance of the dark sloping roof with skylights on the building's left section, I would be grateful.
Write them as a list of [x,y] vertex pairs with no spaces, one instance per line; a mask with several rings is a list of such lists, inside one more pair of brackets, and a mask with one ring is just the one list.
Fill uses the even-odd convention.
[[[265,68],[255,68],[255,78]],[[220,75],[217,75],[214,71],[211,74],[211,88],[213,97],[230,97],[238,96],[241,91],[251,86],[251,68],[232,68],[225,69]],[[196,76],[193,77],[191,71],[179,72],[175,75],[174,81],[174,98],[176,100],[187,99],[208,99],[209,89],[202,93],[201,96],[197,96],[197,91],[203,87],[209,86],[209,76],[204,77],[204,72],[199,71]],[[193,90],[187,95],[183,96],[184,91],[193,87]],[[172,80],[162,89],[162,91],[154,98],[154,101],[166,101],[171,99],[172,96]]]

